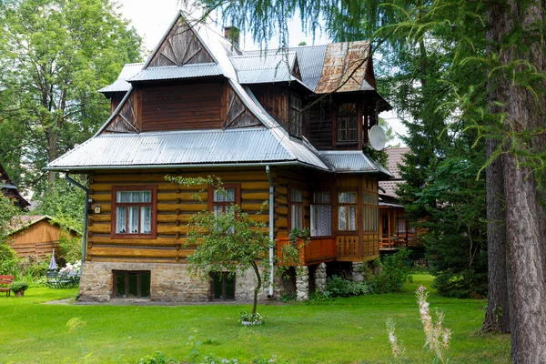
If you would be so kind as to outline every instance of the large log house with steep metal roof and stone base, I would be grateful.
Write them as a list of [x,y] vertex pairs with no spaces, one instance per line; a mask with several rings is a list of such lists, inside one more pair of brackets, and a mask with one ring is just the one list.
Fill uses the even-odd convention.
[[[252,214],[272,201],[254,218],[279,245],[292,228],[308,227],[311,281],[324,263],[351,268],[377,258],[378,181],[391,175],[363,147],[390,106],[369,49],[243,52],[178,14],[146,63],[126,65],[101,90],[113,110],[104,126],[46,168],[88,178],[80,299],[251,299],[248,272],[212,284],[186,274],[195,248],[184,245],[189,217],[231,202]],[[166,175],[221,177],[230,201],[208,190],[197,202],[199,188]],[[259,297],[276,294],[265,288]]]

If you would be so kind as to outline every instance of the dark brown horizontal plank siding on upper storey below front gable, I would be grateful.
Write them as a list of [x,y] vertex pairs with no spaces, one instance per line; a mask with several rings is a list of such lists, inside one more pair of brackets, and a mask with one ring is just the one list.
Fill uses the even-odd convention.
[[142,88],[142,131],[221,127],[224,84]]

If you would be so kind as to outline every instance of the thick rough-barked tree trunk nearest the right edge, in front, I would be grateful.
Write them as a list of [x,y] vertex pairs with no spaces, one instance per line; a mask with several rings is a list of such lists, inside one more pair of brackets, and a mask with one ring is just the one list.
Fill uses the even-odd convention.
[[[545,150],[546,140],[543,133],[522,137],[544,128],[546,83],[532,82],[520,65],[528,63],[539,74],[546,69],[545,11],[541,0],[510,0],[491,6],[489,16],[491,38],[501,45],[499,62],[510,73],[501,75],[498,70],[491,89],[496,88],[495,100],[501,103],[505,116],[504,132],[510,135],[510,142],[503,146],[502,171],[511,272],[512,358],[514,363],[524,364],[546,359],[546,211],[530,158]],[[514,32],[518,32],[518,42],[506,44]]]

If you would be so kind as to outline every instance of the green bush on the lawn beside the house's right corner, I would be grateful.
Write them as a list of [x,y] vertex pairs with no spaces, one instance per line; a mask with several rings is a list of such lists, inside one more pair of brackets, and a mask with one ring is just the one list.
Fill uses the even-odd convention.
[[401,248],[383,260],[379,275],[373,278],[377,293],[399,292],[410,278],[410,250]]

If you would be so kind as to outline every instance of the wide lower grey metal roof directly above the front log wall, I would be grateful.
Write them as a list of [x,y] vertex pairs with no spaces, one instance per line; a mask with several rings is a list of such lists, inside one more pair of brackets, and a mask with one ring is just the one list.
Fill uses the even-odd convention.
[[48,170],[115,167],[185,167],[292,162],[329,170],[302,142],[265,127],[105,134],[49,163]]

